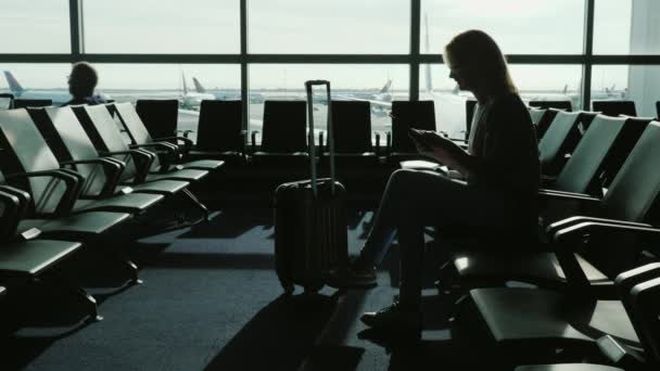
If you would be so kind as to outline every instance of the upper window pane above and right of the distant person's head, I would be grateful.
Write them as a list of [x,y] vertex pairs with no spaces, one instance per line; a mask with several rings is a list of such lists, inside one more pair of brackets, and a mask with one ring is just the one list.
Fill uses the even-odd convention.
[[240,51],[239,0],[84,1],[87,53],[231,54]]

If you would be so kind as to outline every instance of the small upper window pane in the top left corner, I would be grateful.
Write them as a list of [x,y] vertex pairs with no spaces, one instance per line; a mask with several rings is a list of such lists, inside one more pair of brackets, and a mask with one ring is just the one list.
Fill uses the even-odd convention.
[[0,53],[68,53],[66,0],[2,0]]

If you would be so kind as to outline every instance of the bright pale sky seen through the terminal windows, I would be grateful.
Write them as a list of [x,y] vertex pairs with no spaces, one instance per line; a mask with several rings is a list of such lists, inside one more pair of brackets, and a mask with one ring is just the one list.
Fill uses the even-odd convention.
[[[627,53],[632,0],[596,1],[597,53]],[[2,0],[2,52],[69,51],[67,0]],[[505,53],[568,53],[582,50],[584,2],[580,0],[422,0],[429,20],[430,52],[441,53],[453,35],[468,28],[488,31]],[[238,53],[238,0],[84,1],[89,53]],[[409,50],[409,0],[249,0],[253,53],[402,53]],[[29,25],[29,26],[28,26]],[[11,37],[9,37],[11,35]],[[65,87],[65,64],[0,64],[25,87]],[[183,72],[207,88],[240,86],[238,65],[99,64],[100,88],[177,89]],[[575,89],[580,66],[512,66],[522,89]],[[254,65],[252,88],[299,89],[306,78],[329,78],[340,88],[377,88],[394,80],[408,86],[407,65]],[[444,66],[433,67],[433,85],[450,89]],[[604,86],[626,85],[626,68],[594,76]],[[610,82],[611,81],[611,82]],[[597,85],[595,85],[596,87]],[[0,79],[0,89],[7,82]],[[423,87],[423,82],[422,82]]]

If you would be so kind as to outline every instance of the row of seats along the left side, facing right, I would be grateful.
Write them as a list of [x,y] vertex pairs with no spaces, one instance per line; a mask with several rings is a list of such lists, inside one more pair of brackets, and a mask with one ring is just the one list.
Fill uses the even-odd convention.
[[223,162],[181,163],[185,145],[151,141],[141,125],[129,103],[0,112],[0,284],[10,294],[40,278],[77,294],[99,319],[93,297],[62,279],[62,263],[81,248],[102,253],[138,283],[137,266],[106,240],[163,201],[207,213],[189,186]]

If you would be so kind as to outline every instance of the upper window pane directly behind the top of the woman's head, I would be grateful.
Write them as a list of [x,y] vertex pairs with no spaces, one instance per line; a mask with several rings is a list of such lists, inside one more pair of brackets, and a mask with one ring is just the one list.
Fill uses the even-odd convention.
[[420,28],[422,53],[441,54],[452,37],[475,28],[493,36],[505,54],[579,54],[584,2],[421,0]]

